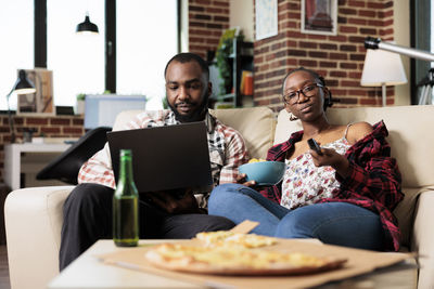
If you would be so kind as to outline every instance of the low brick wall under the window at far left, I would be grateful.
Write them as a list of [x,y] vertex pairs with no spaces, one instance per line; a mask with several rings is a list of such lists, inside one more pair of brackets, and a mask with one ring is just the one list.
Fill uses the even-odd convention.
[[[24,129],[35,129],[34,136],[79,137],[85,134],[81,116],[14,116],[16,141],[23,139]],[[3,181],[4,145],[11,142],[8,115],[0,115],[0,180]]]

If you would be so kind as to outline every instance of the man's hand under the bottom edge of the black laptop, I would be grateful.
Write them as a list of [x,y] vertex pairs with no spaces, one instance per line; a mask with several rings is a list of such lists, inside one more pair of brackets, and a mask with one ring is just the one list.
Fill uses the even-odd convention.
[[201,213],[196,198],[191,189],[175,195],[174,192],[153,192],[146,194],[151,203],[171,214]]

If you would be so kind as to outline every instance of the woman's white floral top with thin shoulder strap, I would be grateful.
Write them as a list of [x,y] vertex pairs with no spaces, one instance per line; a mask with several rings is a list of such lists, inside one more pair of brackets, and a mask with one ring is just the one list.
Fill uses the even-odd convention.
[[[322,147],[333,148],[336,153],[345,155],[350,147],[346,140],[349,126],[347,126],[343,137],[324,144]],[[308,152],[285,162],[286,170],[283,175],[280,205],[288,209],[310,205],[322,198],[331,198],[333,191],[341,186],[335,178],[336,171],[330,166],[316,167]]]

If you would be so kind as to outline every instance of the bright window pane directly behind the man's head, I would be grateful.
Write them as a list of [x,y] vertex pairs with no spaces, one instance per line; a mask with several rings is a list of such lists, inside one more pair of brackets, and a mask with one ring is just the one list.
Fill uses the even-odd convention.
[[178,50],[177,13],[177,0],[117,1],[118,94],[144,94],[148,108],[161,107],[165,95],[164,68]]

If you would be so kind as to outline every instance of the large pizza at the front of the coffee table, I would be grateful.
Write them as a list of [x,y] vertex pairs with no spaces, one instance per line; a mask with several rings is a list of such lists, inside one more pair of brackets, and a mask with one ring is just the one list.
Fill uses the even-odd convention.
[[339,268],[346,262],[302,252],[186,244],[155,246],[146,251],[145,259],[156,267],[170,271],[240,276],[310,274]]

